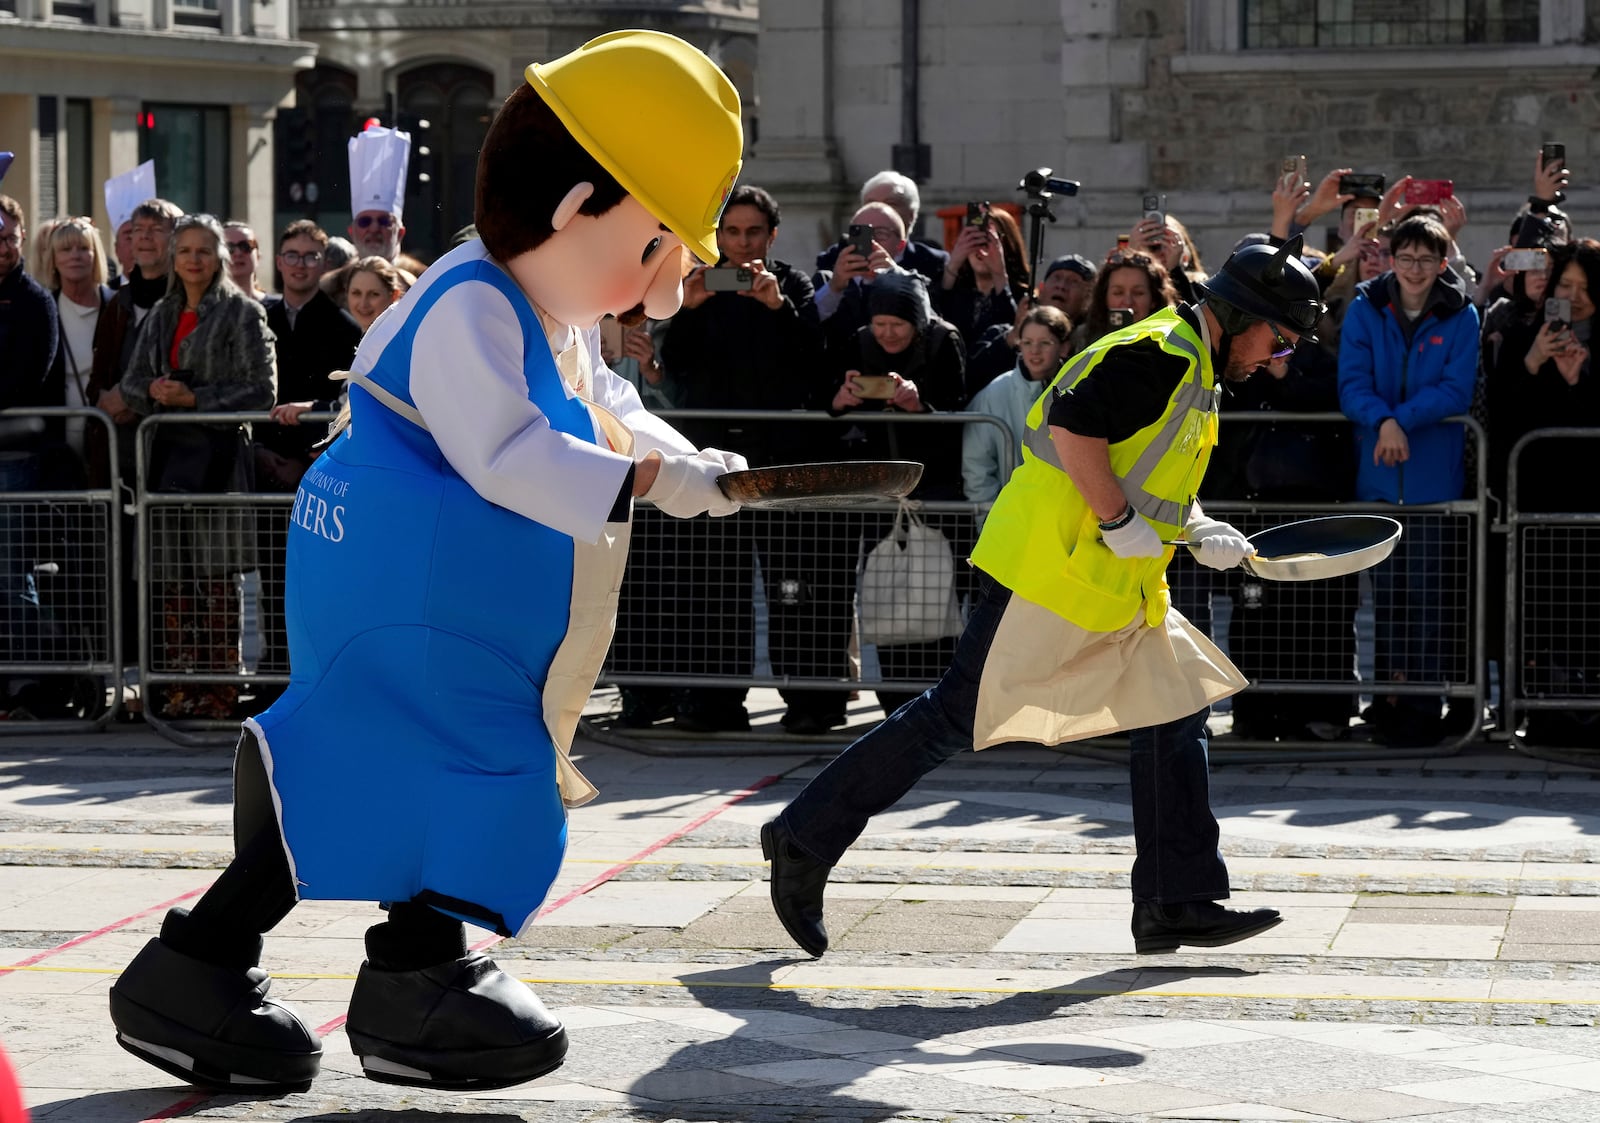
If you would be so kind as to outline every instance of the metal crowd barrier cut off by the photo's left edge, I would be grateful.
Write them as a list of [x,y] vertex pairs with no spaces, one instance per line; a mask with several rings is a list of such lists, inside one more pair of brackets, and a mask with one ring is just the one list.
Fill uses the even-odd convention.
[[[106,432],[104,488],[48,490],[38,442],[50,422]],[[0,453],[0,709],[48,702],[0,721],[0,734],[96,729],[122,707],[122,518],[117,427],[99,410],[6,410],[0,429],[22,448]],[[82,458],[69,445],[53,454]],[[56,713],[70,713],[59,717]]]

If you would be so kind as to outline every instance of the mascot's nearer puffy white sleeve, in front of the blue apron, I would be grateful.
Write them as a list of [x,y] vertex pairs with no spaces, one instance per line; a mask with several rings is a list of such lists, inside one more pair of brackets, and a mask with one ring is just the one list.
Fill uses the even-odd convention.
[[629,458],[552,429],[528,400],[522,325],[498,288],[462,282],[427,312],[411,347],[411,400],[480,496],[582,542],[600,539]]

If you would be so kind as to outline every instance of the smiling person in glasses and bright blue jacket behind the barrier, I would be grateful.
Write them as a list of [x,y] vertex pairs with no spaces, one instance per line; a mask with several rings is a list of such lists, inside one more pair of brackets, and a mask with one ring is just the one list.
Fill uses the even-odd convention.
[[[1450,246],[1437,219],[1402,219],[1389,238],[1394,269],[1357,285],[1344,317],[1339,408],[1355,422],[1360,502],[1448,502],[1466,490],[1466,430],[1445,419],[1472,406],[1478,310],[1450,267]],[[1464,531],[1442,515],[1402,522],[1394,557],[1373,571],[1378,678],[1464,678],[1467,637],[1445,617],[1445,601],[1466,597]],[[1389,694],[1366,717],[1384,744],[1430,745],[1448,733],[1440,701]]]

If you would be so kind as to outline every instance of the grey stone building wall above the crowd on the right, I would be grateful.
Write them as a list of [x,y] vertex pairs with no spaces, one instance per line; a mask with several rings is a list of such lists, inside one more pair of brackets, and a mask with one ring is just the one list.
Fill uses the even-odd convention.
[[1560,141],[1568,210],[1600,226],[1600,0],[786,0],[760,30],[742,179],[786,206],[778,250],[794,261],[917,144],[930,240],[941,206],[1022,202],[1027,170],[1082,181],[1054,200],[1046,258],[1104,253],[1155,192],[1214,266],[1267,226],[1275,171],[1299,154],[1314,179],[1453,179],[1482,261],[1539,144]]

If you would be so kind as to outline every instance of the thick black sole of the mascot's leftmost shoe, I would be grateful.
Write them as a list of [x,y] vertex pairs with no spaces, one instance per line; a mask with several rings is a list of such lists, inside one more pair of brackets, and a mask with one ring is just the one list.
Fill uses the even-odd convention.
[[110,1021],[117,1027],[117,1045],[200,1088],[282,1096],[307,1091],[322,1070],[322,1049],[277,1053],[226,1045],[122,997],[115,989],[110,992]]

